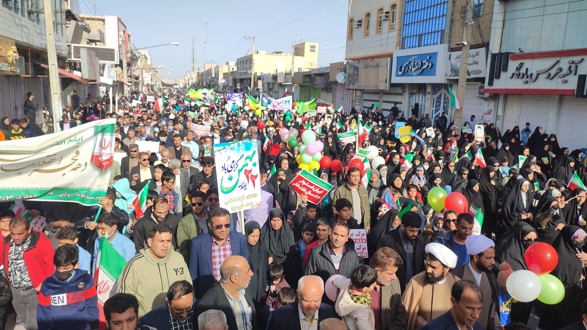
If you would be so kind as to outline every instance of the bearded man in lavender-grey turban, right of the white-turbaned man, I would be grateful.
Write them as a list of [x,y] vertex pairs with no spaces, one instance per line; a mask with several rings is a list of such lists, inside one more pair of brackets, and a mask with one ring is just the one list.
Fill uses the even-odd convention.
[[469,255],[468,264],[457,267],[451,272],[463,280],[477,283],[485,297],[477,321],[486,330],[499,330],[501,329],[500,288],[492,272],[495,265],[495,243],[484,235],[474,235],[467,237],[465,245]]

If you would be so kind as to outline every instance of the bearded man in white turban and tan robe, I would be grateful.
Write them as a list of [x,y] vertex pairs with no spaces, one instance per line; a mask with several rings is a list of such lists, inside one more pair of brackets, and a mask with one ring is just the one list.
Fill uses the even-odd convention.
[[420,330],[451,308],[451,289],[460,280],[448,272],[457,265],[457,255],[440,243],[426,245],[426,271],[411,278],[402,302],[406,307],[406,329]]

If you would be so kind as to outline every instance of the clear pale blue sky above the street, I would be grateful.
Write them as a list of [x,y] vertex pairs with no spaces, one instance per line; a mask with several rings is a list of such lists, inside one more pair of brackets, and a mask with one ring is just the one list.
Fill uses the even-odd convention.
[[[164,79],[183,77],[191,70],[191,38],[200,67],[204,66],[204,18],[208,19],[207,60],[221,65],[255,49],[291,52],[291,43],[319,42],[318,66],[345,58],[346,0],[255,1],[128,1],[95,0],[96,14],[122,18],[137,48],[179,42],[179,46],[150,48],[153,65]],[[94,15],[94,0],[79,0],[80,12]],[[171,64],[170,64],[171,63]],[[167,76],[165,75],[167,74]]]

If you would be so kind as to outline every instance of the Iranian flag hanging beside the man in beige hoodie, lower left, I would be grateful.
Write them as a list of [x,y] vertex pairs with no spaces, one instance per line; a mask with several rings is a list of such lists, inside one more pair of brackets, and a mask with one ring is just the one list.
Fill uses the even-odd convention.
[[[148,185],[146,187],[149,187]],[[106,238],[102,237],[94,270],[94,282],[98,294],[99,329],[108,328],[104,318],[104,302],[116,294],[116,281],[126,265],[126,260],[114,249]]]

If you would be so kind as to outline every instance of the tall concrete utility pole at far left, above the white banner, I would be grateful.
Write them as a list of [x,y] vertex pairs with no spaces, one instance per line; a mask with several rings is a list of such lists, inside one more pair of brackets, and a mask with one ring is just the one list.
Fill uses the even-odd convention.
[[47,60],[49,64],[49,87],[51,94],[51,110],[53,112],[53,129],[59,132],[61,119],[61,82],[59,80],[59,66],[57,64],[57,48],[55,46],[55,21],[53,16],[53,2],[43,1],[45,5],[45,33],[47,38]]

